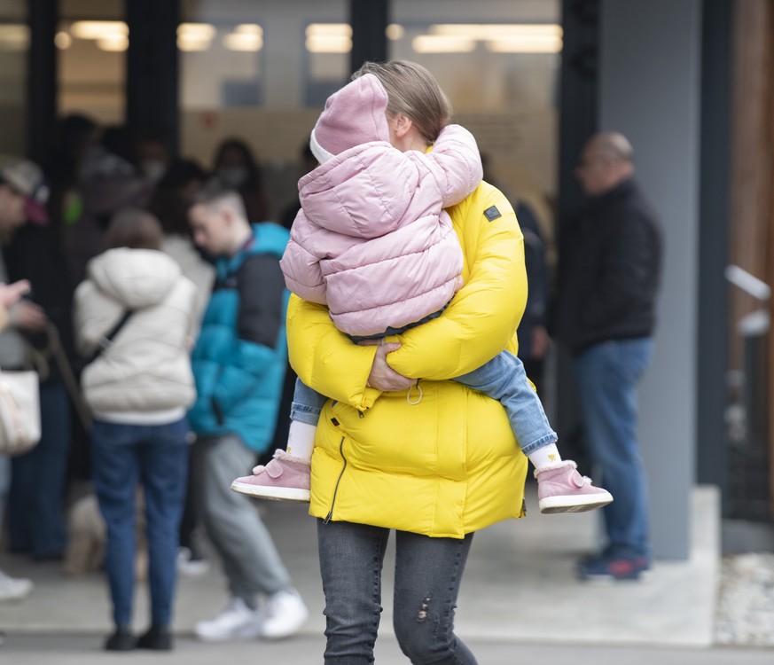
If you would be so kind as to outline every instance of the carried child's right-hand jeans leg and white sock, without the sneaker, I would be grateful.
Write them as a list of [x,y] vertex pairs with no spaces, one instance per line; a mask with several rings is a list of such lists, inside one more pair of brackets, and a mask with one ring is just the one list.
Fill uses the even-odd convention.
[[489,363],[455,380],[503,404],[516,441],[536,468],[561,462],[556,447],[559,437],[551,429],[518,357],[502,351]]

